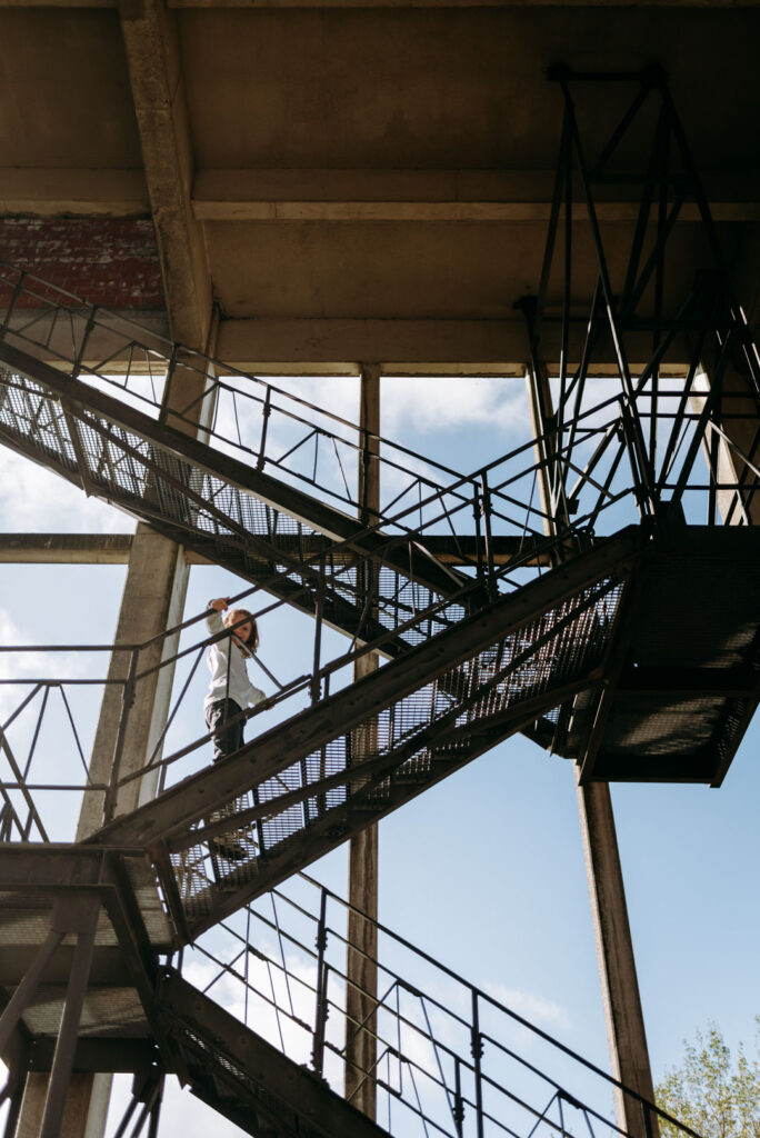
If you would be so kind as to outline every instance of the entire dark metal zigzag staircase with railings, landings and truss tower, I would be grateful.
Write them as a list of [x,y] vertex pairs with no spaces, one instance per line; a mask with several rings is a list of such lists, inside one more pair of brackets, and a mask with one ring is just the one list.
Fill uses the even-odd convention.
[[[717,785],[760,700],[757,348],[661,73],[557,68],[553,79],[565,106],[561,159],[540,286],[534,302],[522,303],[538,429],[474,472],[422,465],[422,456],[270,384],[0,267],[2,442],[254,582],[241,596],[255,597],[258,615],[287,603],[315,618],[308,674],[280,682],[269,673],[278,688],[271,703],[283,715],[304,692],[311,706],[195,774],[183,764],[203,762],[198,749],[208,737],[172,732],[206,636],[160,665],[144,660],[164,637],[122,646],[124,678],[104,679],[96,668],[77,678],[30,668],[1,683],[0,890],[28,941],[0,976],[9,993],[0,1016],[0,1053],[11,1061],[1,1092],[11,1104],[9,1125],[20,1072],[31,1064],[51,1073],[44,1138],[59,1130],[72,1070],[105,1064],[137,1072],[119,1138],[146,1125],[155,1136],[166,1071],[259,1138],[372,1138],[380,1127],[333,1092],[353,1062],[347,1030],[349,1038],[374,1038],[375,1058],[358,1072],[358,1086],[371,1082],[382,1096],[388,1132],[400,1124],[406,1133],[414,1123],[426,1136],[452,1138],[532,1138],[539,1127],[563,1138],[578,1128],[592,1138],[622,1135],[604,1106],[567,1090],[556,1054],[563,1072],[569,1059],[583,1066],[581,1082],[593,1075],[605,1090],[633,1096],[644,1133],[658,1116],[678,1127],[452,973],[446,982],[459,986],[460,1003],[431,993],[422,974],[437,970],[439,979],[446,970],[363,914],[390,947],[373,960],[386,987],[361,993],[374,1005],[353,1022],[352,981],[340,960],[360,948],[329,920],[342,902],[308,881],[295,894],[279,890],[515,731],[577,760],[584,781]],[[597,81],[621,90],[633,83],[635,94],[589,158],[576,91]],[[652,107],[642,174],[626,166],[626,146]],[[594,190],[636,179],[641,212],[616,290]],[[684,290],[670,251],[689,196],[705,259]],[[578,198],[596,257],[581,336]],[[562,355],[552,377],[542,333],[557,319],[556,295]],[[642,333],[651,337],[649,358],[636,370],[631,344]],[[610,346],[617,373],[601,384],[595,362]],[[674,353],[687,361],[683,374],[668,366]],[[183,405],[188,374],[203,394]],[[209,426],[191,437],[199,421]],[[345,470],[358,457],[366,473],[378,450],[394,488],[370,510]],[[462,519],[474,526],[469,542],[460,537]],[[435,555],[429,535],[453,539],[460,569]],[[495,556],[499,541],[514,551],[505,564]],[[694,627],[695,597],[718,592],[727,564],[730,597],[722,591],[710,619]],[[262,600],[263,592],[275,600]],[[166,636],[192,635],[197,619]],[[328,661],[324,625],[349,637],[347,651]],[[75,650],[101,659],[111,648]],[[340,669],[371,651],[387,662],[340,687]],[[166,731],[146,762],[124,775],[135,691],[177,662],[184,678]],[[111,777],[100,784],[86,769],[80,717],[92,716],[88,693],[105,684],[121,688],[123,707]],[[43,745],[51,723],[66,770],[57,777]],[[65,761],[61,725],[72,741]],[[156,770],[158,798],[119,817],[127,782]],[[104,826],[86,843],[51,842],[57,834],[43,799],[60,790],[98,795]],[[301,888],[316,894],[307,902]],[[283,906],[301,927],[286,927]],[[214,940],[221,922],[236,945],[231,959]],[[271,953],[253,948],[256,924],[273,935]],[[209,989],[236,987],[242,1028],[182,978],[198,954],[213,963]],[[292,954],[308,957],[306,972]],[[404,954],[408,968],[396,963]],[[271,1038],[247,1028],[256,1001],[273,1015]],[[460,1006],[466,1014],[452,1011]],[[514,1023],[540,1037],[552,1053],[545,1065],[519,1053]],[[291,1048],[296,1036],[300,1044]]]

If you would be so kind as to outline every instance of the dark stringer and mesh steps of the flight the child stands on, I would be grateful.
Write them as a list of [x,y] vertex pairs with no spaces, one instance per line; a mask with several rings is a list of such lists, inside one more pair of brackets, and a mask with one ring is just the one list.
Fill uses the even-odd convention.
[[[645,547],[642,530],[622,530],[89,840],[148,849],[181,939],[193,939],[597,683]],[[210,853],[224,838],[241,846],[236,865]]]

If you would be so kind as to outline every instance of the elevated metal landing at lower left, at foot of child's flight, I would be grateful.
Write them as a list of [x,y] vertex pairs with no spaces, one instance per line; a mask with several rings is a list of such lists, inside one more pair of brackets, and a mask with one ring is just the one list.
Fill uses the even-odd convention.
[[0,897],[0,989],[6,1006],[16,993],[20,1014],[0,1026],[0,1053],[23,1055],[32,1070],[50,1069],[77,956],[91,935],[74,1070],[149,1064],[157,958],[172,951],[175,937],[148,858],[6,843]]

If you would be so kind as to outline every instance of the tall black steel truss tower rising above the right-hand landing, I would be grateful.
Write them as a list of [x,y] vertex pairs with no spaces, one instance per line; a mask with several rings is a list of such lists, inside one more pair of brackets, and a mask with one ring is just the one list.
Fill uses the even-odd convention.
[[[596,503],[584,511],[593,528],[627,468],[623,481],[642,518],[680,506],[686,497],[691,503],[700,492],[700,512],[686,508],[689,521],[749,525],[758,516],[760,485],[760,356],[733,294],[667,76],[658,67],[597,74],[557,66],[550,77],[564,101],[560,162],[538,292],[520,302],[545,461],[545,512],[561,528],[578,512],[584,495],[596,494]],[[622,104],[620,119],[592,155],[584,141],[584,110],[593,105],[598,127],[600,115],[611,116],[600,108],[618,107],[617,97],[627,98],[630,89],[633,100]],[[647,138],[649,163],[642,170],[639,152]],[[620,226],[613,258],[597,217],[598,195],[612,185],[641,192],[627,262],[620,259]],[[685,250],[676,222],[688,203],[695,205],[699,223],[691,226]],[[579,216],[590,232],[595,280],[578,251],[573,222]],[[691,275],[678,264],[684,259]],[[559,377],[550,386],[543,344],[547,325],[557,322]],[[592,437],[578,411],[600,374],[600,362],[606,365],[610,355],[614,377],[595,382],[603,386],[611,413]],[[635,368],[642,358],[646,362]],[[684,364],[679,379],[670,361]],[[601,373],[608,376],[609,366]],[[707,478],[697,476],[700,451]]]

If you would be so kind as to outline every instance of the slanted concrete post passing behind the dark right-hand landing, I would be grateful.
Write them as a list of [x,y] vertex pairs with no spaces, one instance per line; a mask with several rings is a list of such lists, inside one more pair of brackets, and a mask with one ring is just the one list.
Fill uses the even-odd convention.
[[[548,379],[543,372],[528,373],[526,379],[534,431],[543,432],[553,414]],[[546,457],[538,451],[537,456]],[[556,487],[556,506],[553,508],[546,470],[539,472],[538,490],[546,516],[546,533],[555,534],[569,520],[564,512],[564,494]],[[652,1102],[652,1072],[610,787],[606,783],[590,783],[578,785],[577,793],[612,1073]],[[622,1130],[634,1138],[658,1138],[656,1119],[652,1116],[645,1127],[638,1100],[619,1092],[616,1107]]]

